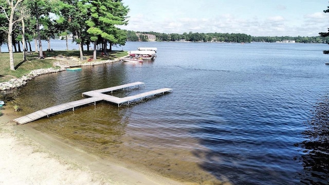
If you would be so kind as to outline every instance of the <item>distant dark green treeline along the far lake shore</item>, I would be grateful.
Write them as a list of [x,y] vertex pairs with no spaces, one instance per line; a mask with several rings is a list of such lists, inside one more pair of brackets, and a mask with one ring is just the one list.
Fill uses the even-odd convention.
[[190,42],[282,42],[295,41],[296,43],[329,43],[329,37],[321,36],[251,36],[244,33],[157,33],[127,31],[127,41],[148,41],[147,36],[137,36],[136,33],[153,34],[156,41],[190,41]]

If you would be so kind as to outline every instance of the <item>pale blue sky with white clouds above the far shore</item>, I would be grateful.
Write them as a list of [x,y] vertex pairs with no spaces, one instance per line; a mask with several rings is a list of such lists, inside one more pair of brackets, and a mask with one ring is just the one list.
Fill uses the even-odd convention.
[[159,33],[245,33],[318,36],[327,32],[328,0],[122,0],[130,11],[120,28]]

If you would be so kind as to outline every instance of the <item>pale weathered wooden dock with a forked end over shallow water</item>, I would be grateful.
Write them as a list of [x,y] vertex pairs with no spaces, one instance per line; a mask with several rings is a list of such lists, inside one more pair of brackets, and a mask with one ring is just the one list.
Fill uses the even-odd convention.
[[130,89],[131,87],[135,88],[136,86],[139,87],[139,85],[144,85],[143,82],[135,82],[135,83],[130,83],[130,84],[124,84],[124,85],[119,85],[115,87],[109,87],[109,88],[104,88],[104,89],[98,89],[98,90],[92,90],[92,91],[87,91],[85,93],[82,93],[82,96],[89,96],[90,98],[85,98],[77,101],[72,101],[68,103],[63,103],[60,105],[52,106],[49,108],[45,108],[42,110],[38,110],[34,113],[28,114],[26,116],[16,118],[14,121],[18,124],[25,124],[32,122],[34,120],[43,118],[43,117],[49,117],[49,115],[56,114],[63,112],[64,110],[72,109],[74,111],[75,107],[86,105],[89,103],[94,103],[96,105],[96,102],[98,101],[108,101],[111,103],[118,104],[118,107],[120,107],[124,103],[130,104],[130,102],[135,101],[135,100],[142,100],[143,98],[158,95],[158,94],[165,94],[166,92],[172,91],[171,88],[162,88],[162,89],[157,89],[157,90],[152,90],[148,91],[145,93],[141,93],[138,95],[133,95],[129,97],[123,97],[123,98],[118,98],[115,96],[111,95],[106,95],[103,93],[108,93],[111,92],[113,93],[114,90],[119,90],[119,89]]

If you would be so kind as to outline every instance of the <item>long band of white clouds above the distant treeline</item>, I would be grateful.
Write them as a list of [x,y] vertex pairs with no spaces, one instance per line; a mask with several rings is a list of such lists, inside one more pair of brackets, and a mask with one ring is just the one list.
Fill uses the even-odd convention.
[[[325,21],[327,20],[327,21]],[[155,31],[159,33],[245,33],[252,36],[317,36],[329,26],[329,13],[312,13],[299,16],[298,20],[284,16],[244,18],[236,14],[219,14],[213,17],[158,17],[156,21],[147,14],[131,17],[122,29]],[[322,29],[323,28],[323,29]]]

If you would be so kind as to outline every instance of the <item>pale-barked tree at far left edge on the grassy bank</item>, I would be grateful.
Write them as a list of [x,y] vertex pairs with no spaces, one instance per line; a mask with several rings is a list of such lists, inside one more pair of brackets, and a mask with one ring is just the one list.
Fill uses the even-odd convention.
[[[14,25],[17,22],[20,22],[22,20],[22,16],[16,15],[15,13],[17,12],[17,8],[19,5],[23,2],[24,0],[7,0],[7,5],[4,0],[0,1],[0,8],[2,9],[2,13],[5,15],[5,17],[8,20],[8,29],[6,29],[6,32],[8,33],[8,51],[9,51],[9,61],[10,61],[10,69],[15,70],[14,66],[14,53],[12,50],[12,32],[14,29]],[[6,7],[5,7],[6,6]],[[2,27],[3,29],[3,27]]]

